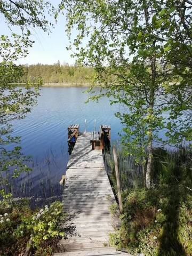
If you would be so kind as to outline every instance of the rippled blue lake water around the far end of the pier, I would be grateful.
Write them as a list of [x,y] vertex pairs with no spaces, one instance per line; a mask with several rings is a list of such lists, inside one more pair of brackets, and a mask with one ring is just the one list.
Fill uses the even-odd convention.
[[14,122],[13,135],[21,136],[22,152],[30,155],[33,172],[22,175],[17,181],[17,194],[50,196],[59,194],[61,175],[66,172],[68,161],[67,127],[79,124],[84,131],[93,131],[94,119],[97,130],[101,124],[111,125],[111,139],[119,138],[122,124],[115,117],[121,106],[112,105],[107,98],[99,103],[85,103],[88,95],[86,89],[79,87],[43,87],[38,105],[27,114],[25,119]]

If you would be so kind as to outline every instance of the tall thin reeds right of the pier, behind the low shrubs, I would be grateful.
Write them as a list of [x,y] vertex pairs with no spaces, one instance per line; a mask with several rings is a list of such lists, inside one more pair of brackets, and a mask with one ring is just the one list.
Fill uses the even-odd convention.
[[[125,154],[120,143],[115,142],[115,146],[122,191],[130,188],[142,188],[142,166],[135,163],[134,156]],[[192,149],[190,147],[177,150],[154,148],[153,155],[152,186],[175,182],[180,183],[181,180],[182,182],[185,180],[185,182],[191,183]],[[103,158],[111,185],[116,191],[115,165],[112,150],[110,149],[109,153],[105,152]]]

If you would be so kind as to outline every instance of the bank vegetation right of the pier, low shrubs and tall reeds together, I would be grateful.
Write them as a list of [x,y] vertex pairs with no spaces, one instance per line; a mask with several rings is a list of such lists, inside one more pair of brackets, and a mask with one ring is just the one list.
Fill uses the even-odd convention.
[[[121,227],[110,245],[145,256],[192,255],[192,151],[154,150],[153,186],[142,187],[141,167],[117,147],[123,197]],[[105,155],[116,190],[113,156]],[[113,209],[111,209],[113,210]]]

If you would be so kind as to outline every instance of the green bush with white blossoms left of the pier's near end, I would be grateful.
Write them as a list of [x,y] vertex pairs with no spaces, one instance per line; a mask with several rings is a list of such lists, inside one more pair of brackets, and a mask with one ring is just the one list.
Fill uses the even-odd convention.
[[34,255],[51,255],[64,235],[60,221],[65,221],[65,215],[60,202],[32,211],[26,200],[4,200],[0,203],[0,214],[1,255],[22,253],[29,239],[33,241]]

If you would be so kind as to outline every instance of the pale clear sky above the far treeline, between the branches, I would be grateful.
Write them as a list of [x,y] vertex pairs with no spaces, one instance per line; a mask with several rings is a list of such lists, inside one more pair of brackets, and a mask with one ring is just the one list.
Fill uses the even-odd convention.
[[[58,7],[60,0],[50,0],[50,2]],[[35,41],[33,47],[29,50],[28,56],[24,59],[19,59],[18,64],[53,64],[60,61],[61,64],[69,63],[72,65],[75,63],[75,59],[70,57],[71,52],[66,50],[69,45],[69,40],[65,32],[66,20],[63,15],[59,15],[55,28],[52,29],[52,33],[47,35],[40,29],[31,29],[33,34],[33,40]],[[0,17],[0,34],[8,35],[9,29],[4,22],[3,18]],[[18,29],[14,30],[16,33]],[[72,36],[75,36],[76,32]]]

